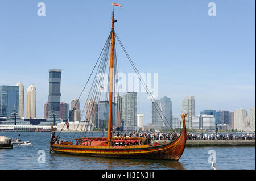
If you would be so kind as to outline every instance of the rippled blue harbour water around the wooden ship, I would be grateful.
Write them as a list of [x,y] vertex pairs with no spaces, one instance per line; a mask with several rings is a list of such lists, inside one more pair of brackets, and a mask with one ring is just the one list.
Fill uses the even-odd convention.
[[[0,169],[209,169],[209,150],[216,151],[217,169],[255,170],[255,147],[205,147],[185,148],[183,155],[176,161],[152,161],[137,159],[113,159],[82,157],[49,153],[50,132],[0,132],[9,138],[21,135],[22,141],[31,145],[14,145],[13,149],[0,149]],[[73,132],[61,133],[61,138],[72,140]],[[98,135],[97,135],[98,134]],[[56,134],[57,135],[57,134]],[[93,136],[101,136],[94,133]],[[38,163],[39,150],[45,151],[46,163]]]

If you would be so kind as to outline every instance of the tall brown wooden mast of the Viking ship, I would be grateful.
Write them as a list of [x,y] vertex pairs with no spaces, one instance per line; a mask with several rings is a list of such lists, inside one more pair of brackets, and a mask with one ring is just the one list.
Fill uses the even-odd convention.
[[110,70],[109,70],[109,124],[108,124],[108,144],[111,141],[111,121],[112,121],[112,89],[113,89],[113,59],[114,59],[114,11],[112,12],[112,30],[111,30],[111,52],[110,52]]

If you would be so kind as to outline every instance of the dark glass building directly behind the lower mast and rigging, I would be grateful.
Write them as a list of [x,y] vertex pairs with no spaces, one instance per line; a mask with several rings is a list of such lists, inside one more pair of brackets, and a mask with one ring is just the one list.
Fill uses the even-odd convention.
[[[108,130],[109,101],[100,101],[96,104],[96,128]],[[115,103],[112,102],[112,127],[115,126]]]

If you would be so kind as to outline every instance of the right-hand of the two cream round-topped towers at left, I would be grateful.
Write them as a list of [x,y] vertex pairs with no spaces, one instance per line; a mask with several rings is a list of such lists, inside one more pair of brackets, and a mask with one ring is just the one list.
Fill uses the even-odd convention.
[[27,89],[26,118],[36,118],[36,88],[30,85]]

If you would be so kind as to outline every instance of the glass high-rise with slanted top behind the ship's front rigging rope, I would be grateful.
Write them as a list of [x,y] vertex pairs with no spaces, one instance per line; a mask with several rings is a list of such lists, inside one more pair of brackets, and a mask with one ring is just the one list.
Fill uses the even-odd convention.
[[170,128],[172,120],[172,102],[164,96],[160,100],[152,102],[152,125],[166,126]]

